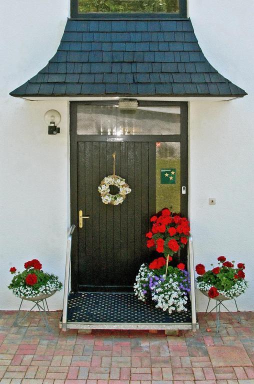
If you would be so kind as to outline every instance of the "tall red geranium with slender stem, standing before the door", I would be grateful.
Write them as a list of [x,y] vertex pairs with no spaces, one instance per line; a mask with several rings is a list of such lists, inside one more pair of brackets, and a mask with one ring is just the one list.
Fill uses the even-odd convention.
[[166,258],[166,273],[168,261],[188,242],[189,222],[186,217],[172,213],[168,208],[153,215],[150,221],[152,227],[146,233],[146,245],[148,248],[155,246],[157,252],[163,253]]

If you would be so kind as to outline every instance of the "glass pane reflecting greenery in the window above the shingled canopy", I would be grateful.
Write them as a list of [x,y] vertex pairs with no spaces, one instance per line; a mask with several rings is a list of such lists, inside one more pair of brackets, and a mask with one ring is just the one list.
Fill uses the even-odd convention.
[[87,12],[179,13],[179,0],[78,0],[78,13]]

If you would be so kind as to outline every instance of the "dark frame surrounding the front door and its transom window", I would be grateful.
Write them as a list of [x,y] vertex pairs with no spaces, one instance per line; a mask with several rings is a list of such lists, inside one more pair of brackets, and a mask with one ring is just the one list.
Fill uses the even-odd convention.
[[[70,222],[77,228],[78,226],[78,206],[77,206],[77,105],[115,105],[115,100],[91,100],[91,101],[70,101],[69,105],[69,134],[70,134]],[[166,135],[167,141],[180,142],[180,173],[181,186],[185,185],[186,193],[181,194],[181,213],[187,217],[188,214],[188,106],[185,101],[156,101],[156,100],[138,100],[142,106],[179,106],[180,107],[180,134]],[[78,135],[80,138],[85,136],[85,141],[105,141],[104,135]],[[165,135],[136,135],[135,141],[163,141]],[[168,140],[168,137],[170,140]],[[83,137],[84,138],[84,137]],[[119,141],[120,136],[107,136],[107,141]],[[145,138],[145,140],[144,140]],[[123,137],[122,137],[123,139]],[[133,136],[124,136],[122,141],[134,141]],[[165,140],[164,140],[165,141]],[[85,213],[85,212],[84,212]],[[78,290],[78,231],[72,234],[71,250],[71,290]],[[185,248],[184,248],[185,250]],[[184,257],[185,258],[185,257]]]

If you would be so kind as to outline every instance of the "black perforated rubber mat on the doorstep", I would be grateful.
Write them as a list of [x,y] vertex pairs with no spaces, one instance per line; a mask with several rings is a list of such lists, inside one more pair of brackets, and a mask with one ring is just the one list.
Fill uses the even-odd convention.
[[144,303],[132,292],[70,292],[67,321],[71,322],[132,322],[191,323],[190,302],[186,312],[167,313]]

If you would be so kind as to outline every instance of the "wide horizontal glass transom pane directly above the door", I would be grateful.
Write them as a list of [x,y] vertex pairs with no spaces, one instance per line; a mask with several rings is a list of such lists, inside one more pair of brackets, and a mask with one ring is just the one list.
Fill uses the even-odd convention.
[[77,134],[180,134],[179,106],[77,105]]

